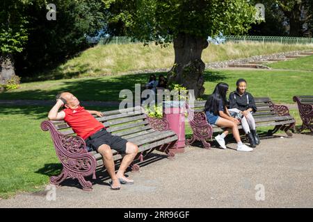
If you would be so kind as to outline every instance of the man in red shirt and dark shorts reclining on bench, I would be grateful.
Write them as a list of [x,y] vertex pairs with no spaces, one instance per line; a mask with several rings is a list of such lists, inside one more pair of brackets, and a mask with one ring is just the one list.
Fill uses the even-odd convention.
[[[63,105],[65,109],[58,112]],[[103,117],[102,112],[85,110],[85,108],[81,107],[79,100],[70,92],[62,92],[56,96],[56,105],[51,108],[48,118],[50,120],[66,121],[79,137],[85,139],[87,146],[92,147],[102,155],[104,166],[112,179],[111,189],[120,189],[121,183],[133,184],[134,180],[126,178],[124,173],[136,157],[138,146],[127,142],[126,139],[111,135],[92,114]],[[119,153],[125,153],[117,173],[115,173],[111,148]]]

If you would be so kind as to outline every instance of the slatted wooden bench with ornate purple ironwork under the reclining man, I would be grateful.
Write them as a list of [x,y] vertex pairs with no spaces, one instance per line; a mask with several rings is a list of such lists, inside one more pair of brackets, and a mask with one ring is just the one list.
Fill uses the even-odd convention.
[[[166,119],[147,117],[141,107],[102,113],[104,117],[96,119],[106,126],[107,131],[138,146],[136,161],[142,162],[143,157],[154,149],[165,152],[170,158],[174,157],[175,154],[168,151],[168,148],[177,142],[177,135],[168,130]],[[93,179],[96,179],[96,170],[103,167],[102,155],[96,151],[88,152],[86,142],[75,135],[65,121],[42,121],[41,128],[49,130],[56,155],[63,164],[61,174],[51,176],[51,184],[59,185],[66,178],[77,178],[83,190],[91,190],[92,182],[86,181],[84,177],[93,175]],[[114,160],[120,161],[122,155],[112,151]],[[138,171],[138,164],[131,164],[131,169]]]

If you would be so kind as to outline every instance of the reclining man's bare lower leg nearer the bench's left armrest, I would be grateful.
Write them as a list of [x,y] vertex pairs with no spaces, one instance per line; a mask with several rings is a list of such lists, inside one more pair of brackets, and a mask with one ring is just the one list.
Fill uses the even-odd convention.
[[113,154],[111,151],[111,147],[103,144],[99,146],[98,153],[100,153],[103,157],[104,167],[106,167],[106,171],[108,171],[111,179],[112,179],[112,189],[120,188],[120,180],[115,174],[115,164],[113,160]]

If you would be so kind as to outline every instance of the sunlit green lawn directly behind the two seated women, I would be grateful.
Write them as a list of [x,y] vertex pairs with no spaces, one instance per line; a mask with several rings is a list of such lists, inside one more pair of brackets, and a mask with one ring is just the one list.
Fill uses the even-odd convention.
[[234,91],[239,78],[247,80],[247,90],[253,96],[269,96],[274,103],[294,103],[292,97],[295,95],[313,95],[313,71],[223,70],[207,71],[204,77],[204,94],[207,95],[219,82],[228,83],[230,92]]

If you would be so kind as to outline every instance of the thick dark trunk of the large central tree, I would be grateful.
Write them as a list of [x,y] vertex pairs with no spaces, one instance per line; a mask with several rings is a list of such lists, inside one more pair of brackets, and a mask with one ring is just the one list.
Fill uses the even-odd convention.
[[208,45],[204,38],[179,34],[174,39],[175,64],[168,73],[168,83],[179,83],[187,89],[194,89],[196,98],[201,96],[204,93],[205,68],[201,54]]

